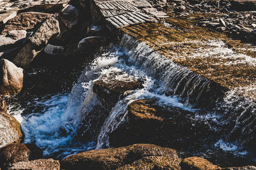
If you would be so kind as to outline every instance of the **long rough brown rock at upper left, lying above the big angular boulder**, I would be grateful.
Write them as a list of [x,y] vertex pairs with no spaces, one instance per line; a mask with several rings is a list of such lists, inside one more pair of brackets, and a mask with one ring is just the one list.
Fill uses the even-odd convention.
[[8,20],[4,25],[2,34],[6,34],[12,30],[26,30],[31,31],[37,24],[44,22],[47,18],[51,18],[51,13],[40,12],[24,12],[16,17]]

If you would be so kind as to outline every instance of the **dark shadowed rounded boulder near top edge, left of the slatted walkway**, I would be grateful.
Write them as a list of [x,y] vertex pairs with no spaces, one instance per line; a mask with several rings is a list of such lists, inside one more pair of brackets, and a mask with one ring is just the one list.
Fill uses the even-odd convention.
[[71,4],[65,5],[59,15],[63,24],[69,29],[72,29],[79,21],[79,10]]

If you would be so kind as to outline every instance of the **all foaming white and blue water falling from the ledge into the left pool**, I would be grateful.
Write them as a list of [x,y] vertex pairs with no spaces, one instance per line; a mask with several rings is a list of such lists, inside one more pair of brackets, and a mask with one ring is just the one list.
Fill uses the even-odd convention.
[[[65,157],[109,147],[109,133],[125,122],[128,104],[136,99],[154,98],[159,104],[191,111],[195,119],[209,124],[212,131],[220,134],[212,141],[213,148],[241,157],[248,154],[244,146],[252,146],[255,140],[256,105],[253,101],[221,89],[213,81],[175,64],[131,36],[124,35],[120,46],[112,46],[108,52],[96,55],[69,94],[56,94],[28,103],[44,108],[40,113],[32,111],[22,115],[21,108],[9,108],[9,113],[22,125],[25,143],[36,143],[44,150],[45,157]],[[143,80],[143,89],[130,92],[116,103],[97,141],[83,143],[76,138],[77,128],[84,113],[90,113],[100,104],[93,92],[93,83],[111,73],[122,73],[116,76],[120,80],[124,75]]]

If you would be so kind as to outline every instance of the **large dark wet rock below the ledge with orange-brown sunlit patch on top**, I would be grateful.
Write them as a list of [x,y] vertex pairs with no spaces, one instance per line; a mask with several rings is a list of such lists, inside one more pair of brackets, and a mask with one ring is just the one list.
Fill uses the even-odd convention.
[[154,99],[129,104],[127,122],[109,135],[110,146],[154,143],[175,148],[201,148],[214,131],[193,113],[158,104]]

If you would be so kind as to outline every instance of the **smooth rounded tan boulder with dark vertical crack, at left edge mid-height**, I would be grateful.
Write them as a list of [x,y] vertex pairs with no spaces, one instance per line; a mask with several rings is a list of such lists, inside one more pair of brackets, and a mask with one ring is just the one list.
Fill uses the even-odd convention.
[[0,60],[0,94],[12,96],[22,90],[24,83],[24,71],[12,62]]

